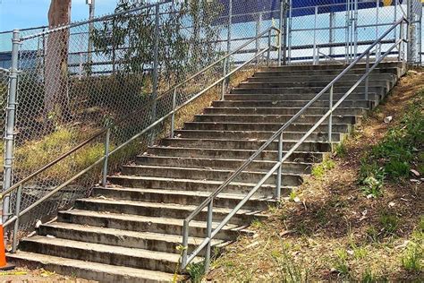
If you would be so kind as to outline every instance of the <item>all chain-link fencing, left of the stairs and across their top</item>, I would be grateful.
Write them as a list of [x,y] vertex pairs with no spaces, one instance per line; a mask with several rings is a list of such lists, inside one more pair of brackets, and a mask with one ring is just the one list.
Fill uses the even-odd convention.
[[[78,146],[24,184],[21,210],[48,199],[21,219],[21,228],[89,194],[100,180],[105,143],[114,152],[108,159],[112,174],[148,144],[169,135],[174,106],[183,106],[174,116],[178,127],[218,99],[221,86],[216,81],[223,72],[243,66],[240,77],[232,77],[236,83],[267,58],[293,64],[343,61],[372,43],[401,10],[401,5],[355,7],[354,2],[328,5],[324,0],[314,6],[294,0],[259,2],[165,1],[140,7],[118,1],[114,14],[21,34],[13,184]],[[377,25],[366,21],[366,14],[377,13],[376,8],[377,19],[386,13]],[[267,32],[270,27],[286,27],[283,39]],[[278,48],[267,51],[269,46],[282,46],[283,53]],[[198,73],[233,50],[226,60]],[[5,92],[0,95],[6,98]],[[111,124],[106,142],[101,129]],[[16,197],[11,196],[11,214]]]

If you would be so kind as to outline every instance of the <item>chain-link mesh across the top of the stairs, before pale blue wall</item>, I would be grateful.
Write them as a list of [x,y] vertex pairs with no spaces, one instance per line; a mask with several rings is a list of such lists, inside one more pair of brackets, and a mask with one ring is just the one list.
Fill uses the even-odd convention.
[[[291,63],[310,64],[352,60],[378,39],[401,17],[406,17],[406,1],[332,1],[318,0],[310,6],[290,1],[288,11],[288,57]],[[313,3],[313,4],[312,4]],[[418,19],[421,4],[412,0]],[[417,39],[420,38],[417,31]],[[399,29],[378,46],[375,56],[384,53],[396,39]],[[417,44],[415,45],[417,46]],[[394,50],[392,56],[396,56]],[[418,51],[414,61],[419,60]]]

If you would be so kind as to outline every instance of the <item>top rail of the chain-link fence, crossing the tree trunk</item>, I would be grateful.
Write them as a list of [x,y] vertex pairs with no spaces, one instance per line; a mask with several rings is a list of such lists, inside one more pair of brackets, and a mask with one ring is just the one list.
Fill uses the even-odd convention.
[[21,41],[33,39],[33,38],[38,38],[38,37],[41,37],[43,35],[47,35],[49,33],[59,31],[59,30],[69,30],[69,29],[72,29],[72,28],[75,28],[75,27],[78,27],[78,26],[81,26],[81,25],[84,25],[84,24],[88,24],[88,23],[93,23],[93,22],[98,22],[98,21],[106,21],[106,20],[112,19],[112,18],[119,16],[119,15],[122,15],[122,14],[138,12],[140,10],[148,9],[148,8],[151,8],[151,7],[154,7],[154,6],[157,6],[157,5],[168,4],[168,3],[171,3],[173,1],[174,0],[162,0],[162,1],[158,1],[157,3],[144,4],[144,5],[141,5],[139,7],[129,9],[129,10],[123,10],[121,12],[106,14],[104,16],[100,16],[100,17],[97,17],[97,18],[94,18],[94,19],[89,19],[89,20],[84,20],[84,21],[75,21],[75,22],[72,22],[70,24],[66,24],[66,25],[63,25],[63,26],[57,26],[52,30],[45,30],[45,31],[42,31],[42,32],[31,34],[31,35],[26,36],[26,37],[22,37]]

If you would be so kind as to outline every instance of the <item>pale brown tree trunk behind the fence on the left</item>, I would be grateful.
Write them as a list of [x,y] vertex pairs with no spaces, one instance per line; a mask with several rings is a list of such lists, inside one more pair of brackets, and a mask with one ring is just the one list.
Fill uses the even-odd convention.
[[[71,20],[72,0],[51,0],[48,10],[49,29],[66,25]],[[56,30],[48,35],[44,110],[47,124],[65,122],[70,118],[68,97],[69,29]]]

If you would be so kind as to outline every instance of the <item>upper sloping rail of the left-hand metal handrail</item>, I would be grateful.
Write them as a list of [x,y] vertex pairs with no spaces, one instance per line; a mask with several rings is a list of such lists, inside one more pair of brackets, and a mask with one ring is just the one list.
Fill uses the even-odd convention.
[[[237,52],[239,52],[242,48],[248,46],[251,42],[253,42],[254,40],[256,40],[257,38],[262,37],[264,34],[267,34],[267,32],[270,32],[270,30],[276,30],[277,32],[280,32],[280,30],[276,29],[275,27],[270,27],[267,30],[264,30],[262,33],[260,33],[258,35],[258,37],[254,38],[254,39],[250,39],[249,41],[247,41],[246,43],[244,43],[242,46],[234,49],[232,52],[226,54],[225,56],[222,56],[221,58],[217,59],[214,63],[212,64],[208,64],[208,66],[204,67],[203,69],[201,69],[198,73],[195,73],[193,75],[191,75],[189,78],[185,79],[184,81],[174,85],[171,89],[169,90],[165,90],[161,95],[159,95],[157,97],[156,100],[162,98],[163,96],[165,96],[165,94],[173,92],[174,90],[180,88],[182,85],[184,85],[185,83],[187,83],[188,81],[191,81],[192,79],[194,79],[195,77],[199,76],[199,74],[201,73],[205,73],[206,71],[208,71],[210,68],[212,68],[213,66],[215,66],[216,64],[219,64],[220,62],[223,62],[226,58],[228,58],[229,56],[233,56],[234,54],[236,54]],[[152,102],[149,102],[152,103]],[[145,105],[146,106],[146,105]],[[21,181],[17,182],[16,184],[13,184],[9,189],[5,190],[4,192],[0,193],[0,199],[2,199],[4,197],[4,195],[7,195],[11,192],[13,192],[14,190],[16,190],[20,185],[27,183],[28,181],[30,181],[32,178],[34,178],[35,176],[38,176],[39,174],[41,174],[42,172],[46,171],[48,168],[54,166],[56,163],[58,163],[59,161],[67,158],[68,156],[70,156],[72,153],[74,153],[75,151],[81,149],[83,146],[85,146],[86,144],[88,144],[89,142],[95,140],[96,138],[98,138],[99,136],[101,136],[102,134],[105,134],[109,129],[111,129],[112,127],[118,125],[118,124],[122,124],[124,121],[130,119],[132,116],[135,116],[137,114],[140,113],[140,109],[143,109],[144,107],[140,107],[134,111],[132,111],[131,113],[129,113],[126,116],[123,116],[123,118],[119,119],[118,121],[116,121],[114,124],[109,124],[108,126],[104,127],[103,129],[98,130],[97,133],[93,134],[89,139],[87,139],[84,142],[81,142],[79,145],[75,146],[74,148],[72,148],[71,150],[65,152],[64,154],[62,154],[61,156],[59,156],[58,158],[50,161],[49,163],[47,163],[47,165],[39,168],[37,171],[35,171],[34,173],[30,174],[29,176],[26,176],[25,178],[21,179]]]

